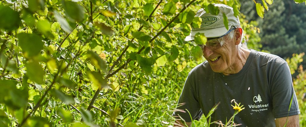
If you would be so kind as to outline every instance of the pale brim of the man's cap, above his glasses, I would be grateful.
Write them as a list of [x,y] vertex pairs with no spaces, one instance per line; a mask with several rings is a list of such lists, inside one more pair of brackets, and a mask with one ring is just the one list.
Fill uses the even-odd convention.
[[230,27],[232,27],[232,25],[229,25],[228,30],[226,29],[226,27],[218,27],[218,28],[209,29],[209,30],[195,30],[195,31],[191,30],[190,34],[185,38],[185,41],[194,40],[194,36],[196,35],[196,33],[204,33],[206,38],[220,37],[226,34],[227,31],[230,30]]

